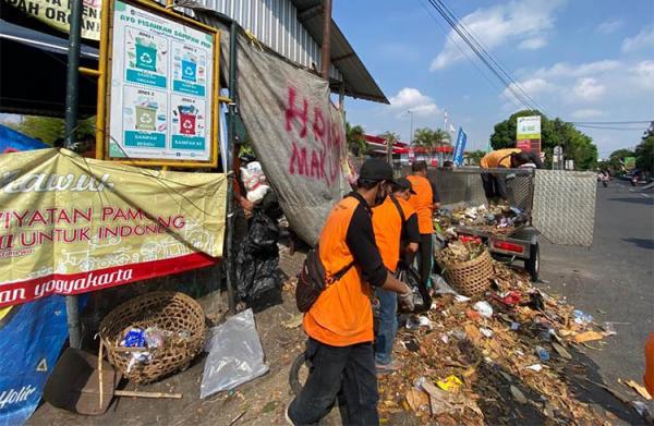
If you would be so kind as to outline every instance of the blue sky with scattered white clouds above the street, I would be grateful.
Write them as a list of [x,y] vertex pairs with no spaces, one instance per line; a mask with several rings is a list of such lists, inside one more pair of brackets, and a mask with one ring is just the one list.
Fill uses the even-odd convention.
[[[445,3],[548,118],[654,120],[654,1]],[[366,133],[407,141],[411,117],[413,129],[443,127],[447,110],[468,149],[485,149],[497,122],[526,109],[427,0],[336,0],[334,19],[390,101],[346,100],[348,121]],[[635,146],[645,127],[580,130],[604,158]]]

